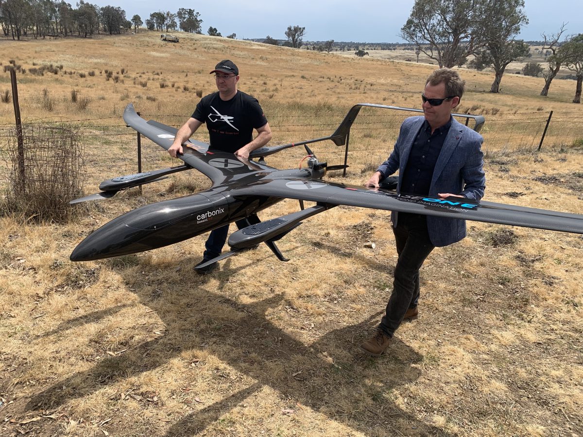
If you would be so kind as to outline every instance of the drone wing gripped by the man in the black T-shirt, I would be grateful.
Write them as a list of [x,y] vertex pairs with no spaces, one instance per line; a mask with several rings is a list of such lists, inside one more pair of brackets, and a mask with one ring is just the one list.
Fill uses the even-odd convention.
[[[145,121],[134,110],[134,105],[127,105],[124,111],[124,121],[128,126],[141,133],[146,138],[162,147],[170,149],[178,129],[161,124],[157,121]],[[249,165],[238,160],[232,153],[209,151],[209,145],[201,141],[188,140],[184,143],[183,154],[178,158],[195,170],[208,177],[213,186],[223,184],[235,175],[245,175],[252,171],[268,170],[265,165]],[[254,163],[256,164],[256,163]],[[261,168],[257,168],[261,167]]]

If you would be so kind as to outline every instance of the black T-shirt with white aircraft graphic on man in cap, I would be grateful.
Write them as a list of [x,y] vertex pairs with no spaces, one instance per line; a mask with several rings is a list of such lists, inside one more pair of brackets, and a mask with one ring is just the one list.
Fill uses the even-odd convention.
[[199,101],[192,118],[206,123],[210,149],[234,153],[253,139],[253,129],[265,126],[267,119],[257,98],[238,91],[230,100],[221,100],[219,92]]

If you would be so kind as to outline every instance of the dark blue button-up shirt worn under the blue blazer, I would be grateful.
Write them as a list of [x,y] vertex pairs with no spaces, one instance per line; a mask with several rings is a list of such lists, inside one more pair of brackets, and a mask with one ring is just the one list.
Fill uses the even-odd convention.
[[451,127],[451,118],[447,124],[441,126],[431,135],[431,126],[427,120],[419,129],[419,133],[413,142],[409,159],[403,174],[401,192],[415,194],[417,196],[429,195],[433,170],[436,167],[437,158],[441,153],[441,147]]

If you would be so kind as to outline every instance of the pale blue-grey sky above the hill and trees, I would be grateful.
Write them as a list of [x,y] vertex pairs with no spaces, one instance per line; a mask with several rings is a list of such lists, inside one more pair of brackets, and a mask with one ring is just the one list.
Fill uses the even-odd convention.
[[[399,31],[405,24],[415,0],[97,0],[99,6],[120,6],[127,19],[138,14],[143,22],[150,13],[177,12],[192,8],[200,13],[202,30],[216,27],[223,36],[237,34],[237,39],[285,39],[289,25],[305,27],[304,41],[354,41],[359,43],[394,43],[402,41]],[[73,2],[72,2],[73,3]],[[524,40],[540,40],[540,34],[554,33],[568,22],[567,33],[583,33],[581,0],[525,0],[529,24],[520,35]]]

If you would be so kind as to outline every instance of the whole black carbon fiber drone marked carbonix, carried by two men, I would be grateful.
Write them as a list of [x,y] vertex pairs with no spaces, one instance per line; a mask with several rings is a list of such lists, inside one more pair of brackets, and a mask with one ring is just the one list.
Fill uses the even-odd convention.
[[[168,174],[194,168],[212,181],[203,192],[178,199],[164,200],[134,209],[94,231],[71,253],[72,261],[88,261],[129,253],[149,251],[203,234],[236,220],[246,219],[247,227],[229,237],[231,250],[200,267],[227,258],[261,242],[282,261],[287,259],[275,241],[301,224],[301,220],[338,205],[393,210],[441,217],[463,218],[552,231],[583,234],[583,215],[535,209],[503,203],[475,202],[470,199],[433,199],[399,194],[388,188],[371,189],[345,185],[322,179],[327,170],[342,170],[345,165],[318,162],[307,144],[332,140],[337,146],[346,144],[354,118],[363,106],[388,108],[383,105],[358,104],[348,112],[338,129],[324,138],[254,150],[250,160],[232,153],[208,150],[209,145],[188,140],[184,154],[178,155],[184,165],[108,179],[101,183],[100,193],[73,200],[71,203],[110,198],[115,193],[159,181]],[[402,108],[397,108],[402,109]],[[456,115],[456,114],[454,114]],[[465,116],[465,115],[464,115]],[[476,118],[476,130],[483,117]],[[129,104],[124,121],[163,149],[172,145],[177,129],[156,121],[146,122]],[[307,168],[278,170],[265,163],[264,157],[288,147],[304,145],[310,160]],[[258,158],[254,161],[254,158]],[[262,222],[257,213],[283,199],[297,199],[300,210]],[[304,201],[316,205],[304,209]]]

